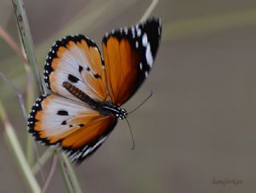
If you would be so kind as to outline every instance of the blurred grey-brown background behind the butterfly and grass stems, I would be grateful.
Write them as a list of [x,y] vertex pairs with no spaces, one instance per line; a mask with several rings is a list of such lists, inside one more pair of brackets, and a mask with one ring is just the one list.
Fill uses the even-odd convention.
[[[38,62],[43,68],[55,40],[102,35],[138,22],[149,0],[25,0]],[[149,78],[126,105],[136,148],[120,121],[106,143],[76,167],[86,193],[254,192],[256,178],[256,2],[160,0],[162,45]],[[17,41],[14,11],[0,2],[0,25]],[[0,70],[23,92],[22,61],[0,39]],[[0,97],[25,144],[26,120],[18,98],[0,80]],[[0,192],[27,192],[0,125]],[[40,145],[39,145],[40,146]],[[46,170],[47,172],[47,170]],[[213,179],[239,179],[216,185]],[[58,171],[48,192],[66,192]]]

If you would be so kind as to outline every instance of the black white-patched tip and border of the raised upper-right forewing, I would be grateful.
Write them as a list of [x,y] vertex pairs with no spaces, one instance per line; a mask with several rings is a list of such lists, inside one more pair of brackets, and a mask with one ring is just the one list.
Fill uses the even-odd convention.
[[[106,42],[110,37],[116,37],[119,41],[125,38],[130,41],[130,45],[133,46],[134,50],[138,50],[138,53],[141,56],[141,62],[138,63],[140,79],[137,85],[139,86],[148,76],[153,67],[160,45],[161,35],[161,18],[150,17],[145,21],[138,22],[134,26],[123,27],[119,30],[112,30],[111,33],[106,33],[102,39],[102,43],[106,45]],[[138,89],[138,86],[136,86],[134,90]]]

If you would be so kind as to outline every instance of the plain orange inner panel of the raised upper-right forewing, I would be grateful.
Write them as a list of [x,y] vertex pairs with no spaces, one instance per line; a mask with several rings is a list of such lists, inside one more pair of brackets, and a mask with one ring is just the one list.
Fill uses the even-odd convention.
[[123,104],[134,93],[138,81],[138,52],[127,39],[110,37],[103,45],[106,65],[106,81],[111,100]]

